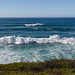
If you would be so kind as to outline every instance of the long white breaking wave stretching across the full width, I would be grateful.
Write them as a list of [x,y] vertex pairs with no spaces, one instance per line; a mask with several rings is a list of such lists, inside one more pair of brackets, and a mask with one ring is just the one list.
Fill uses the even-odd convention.
[[75,44],[75,38],[60,38],[59,35],[53,35],[49,38],[31,38],[31,37],[15,37],[4,36],[0,38],[0,43],[13,43],[13,44],[28,44],[28,43],[63,43],[63,44]]

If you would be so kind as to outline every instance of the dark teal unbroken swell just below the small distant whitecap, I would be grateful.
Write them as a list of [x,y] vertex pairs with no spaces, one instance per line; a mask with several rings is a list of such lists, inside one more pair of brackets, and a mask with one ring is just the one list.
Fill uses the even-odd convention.
[[21,31],[75,31],[74,28],[50,28],[50,27],[42,27],[42,28],[24,28],[22,26],[18,26],[18,27],[4,27],[4,28],[0,28],[0,31],[2,30],[11,30],[11,31],[17,31],[17,30],[21,30]]

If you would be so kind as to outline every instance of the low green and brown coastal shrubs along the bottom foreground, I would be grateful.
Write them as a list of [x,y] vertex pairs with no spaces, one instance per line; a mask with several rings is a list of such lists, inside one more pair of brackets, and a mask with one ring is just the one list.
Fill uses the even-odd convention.
[[0,64],[0,75],[75,75],[75,60]]

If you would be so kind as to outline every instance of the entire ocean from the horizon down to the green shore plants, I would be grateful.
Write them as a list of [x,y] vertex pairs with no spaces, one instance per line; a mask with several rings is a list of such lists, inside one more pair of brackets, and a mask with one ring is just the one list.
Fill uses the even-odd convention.
[[75,18],[0,18],[0,64],[75,59]]

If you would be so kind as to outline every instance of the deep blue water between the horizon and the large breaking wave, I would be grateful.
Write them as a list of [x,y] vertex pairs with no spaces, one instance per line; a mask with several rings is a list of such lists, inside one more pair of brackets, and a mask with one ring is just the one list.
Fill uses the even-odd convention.
[[[25,27],[24,24],[42,23],[43,26]],[[61,35],[74,37],[75,18],[0,18],[0,37],[49,37]]]

